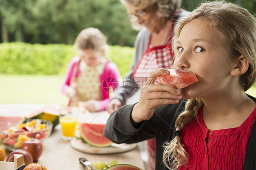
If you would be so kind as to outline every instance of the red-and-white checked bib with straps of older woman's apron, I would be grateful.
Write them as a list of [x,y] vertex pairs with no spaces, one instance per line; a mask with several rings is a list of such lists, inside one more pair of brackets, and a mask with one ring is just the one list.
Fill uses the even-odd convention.
[[[150,35],[147,48],[133,72],[133,80],[138,87],[143,87],[145,85],[145,82],[152,71],[158,68],[173,68],[174,53],[172,52],[171,44],[173,25],[174,21],[170,26],[168,42],[162,46],[151,47]],[[155,83],[159,83],[158,78]]]

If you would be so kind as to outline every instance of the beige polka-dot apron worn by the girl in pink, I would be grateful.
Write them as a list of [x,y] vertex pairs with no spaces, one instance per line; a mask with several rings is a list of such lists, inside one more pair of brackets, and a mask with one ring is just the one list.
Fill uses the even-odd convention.
[[[81,63],[82,65],[82,63]],[[104,63],[97,66],[86,66],[76,78],[76,97],[70,101],[70,106],[77,106],[78,102],[88,100],[102,100],[100,75],[105,67]],[[75,78],[75,77],[74,77]]]

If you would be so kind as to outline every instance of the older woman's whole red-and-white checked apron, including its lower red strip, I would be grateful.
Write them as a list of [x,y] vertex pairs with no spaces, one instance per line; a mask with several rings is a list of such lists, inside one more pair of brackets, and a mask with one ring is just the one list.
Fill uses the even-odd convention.
[[[149,74],[158,69],[173,68],[174,53],[172,52],[172,32],[174,21],[171,24],[169,31],[168,42],[162,46],[150,47],[151,35],[148,41],[147,49],[145,50],[140,62],[133,72],[133,80],[138,87],[143,87],[147,81]],[[159,83],[156,78],[155,83]],[[155,139],[145,141],[145,149],[148,153],[147,170],[155,170]]]

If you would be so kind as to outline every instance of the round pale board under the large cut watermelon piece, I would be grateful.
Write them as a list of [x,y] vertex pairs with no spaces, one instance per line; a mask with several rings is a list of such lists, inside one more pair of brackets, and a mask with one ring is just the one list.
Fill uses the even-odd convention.
[[82,140],[73,140],[71,141],[71,146],[77,151],[89,154],[114,154],[133,150],[137,146],[137,144],[113,143],[111,146],[108,147],[95,147],[88,143],[82,142]]

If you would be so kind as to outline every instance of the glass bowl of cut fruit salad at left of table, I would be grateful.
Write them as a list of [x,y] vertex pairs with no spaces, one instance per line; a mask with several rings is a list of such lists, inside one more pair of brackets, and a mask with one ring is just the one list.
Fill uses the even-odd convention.
[[27,119],[21,124],[13,126],[11,122],[0,122],[0,144],[5,149],[14,151],[19,149],[27,139],[43,140],[51,134],[52,122],[42,119]]

